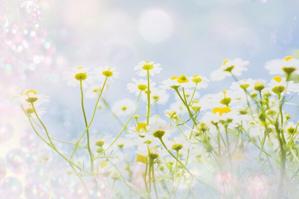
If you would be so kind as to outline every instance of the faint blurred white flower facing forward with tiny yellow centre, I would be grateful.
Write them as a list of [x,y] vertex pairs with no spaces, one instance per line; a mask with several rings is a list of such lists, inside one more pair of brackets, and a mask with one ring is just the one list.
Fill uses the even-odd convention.
[[126,116],[134,112],[136,107],[136,102],[125,98],[120,101],[116,101],[112,106],[112,112],[117,116]]

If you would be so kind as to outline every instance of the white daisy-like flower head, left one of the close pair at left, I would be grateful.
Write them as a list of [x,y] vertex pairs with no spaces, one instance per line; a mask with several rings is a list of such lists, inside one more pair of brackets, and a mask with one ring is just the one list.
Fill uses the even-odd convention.
[[90,67],[75,67],[72,71],[67,71],[64,73],[64,81],[67,81],[67,86],[76,87],[80,85],[82,81],[82,87],[86,88],[87,84],[93,84],[96,80],[95,75],[90,72]]

